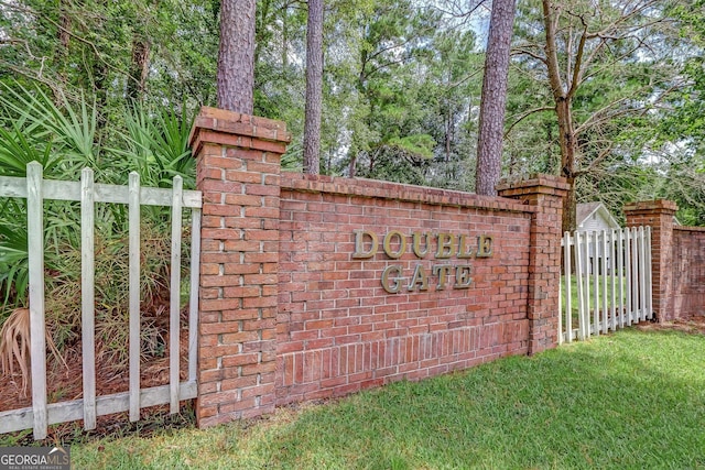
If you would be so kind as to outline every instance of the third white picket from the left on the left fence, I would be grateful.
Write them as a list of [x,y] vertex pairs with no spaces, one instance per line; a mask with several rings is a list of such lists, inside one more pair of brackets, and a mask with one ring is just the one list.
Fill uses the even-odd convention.
[[128,184],[130,296],[130,420],[140,419],[140,175]]

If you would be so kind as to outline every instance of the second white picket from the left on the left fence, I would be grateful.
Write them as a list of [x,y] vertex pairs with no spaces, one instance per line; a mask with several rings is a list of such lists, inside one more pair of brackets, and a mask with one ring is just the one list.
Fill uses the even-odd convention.
[[96,428],[95,184],[90,168],[80,172],[80,335],[84,375],[84,428]]

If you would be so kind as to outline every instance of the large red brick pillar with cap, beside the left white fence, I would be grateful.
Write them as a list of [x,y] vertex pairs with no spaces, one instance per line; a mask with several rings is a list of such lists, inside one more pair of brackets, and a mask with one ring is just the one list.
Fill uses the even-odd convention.
[[202,108],[191,134],[203,192],[199,427],[274,408],[280,159],[286,124]]

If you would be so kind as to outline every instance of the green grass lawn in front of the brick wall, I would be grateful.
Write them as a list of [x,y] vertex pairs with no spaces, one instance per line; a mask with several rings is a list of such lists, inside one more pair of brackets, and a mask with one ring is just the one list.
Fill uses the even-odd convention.
[[261,420],[72,447],[77,469],[705,468],[705,336],[625,330]]

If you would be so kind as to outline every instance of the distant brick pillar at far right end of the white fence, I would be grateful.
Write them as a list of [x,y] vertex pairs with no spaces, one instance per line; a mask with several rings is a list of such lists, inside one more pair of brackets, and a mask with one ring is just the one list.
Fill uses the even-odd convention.
[[627,227],[651,227],[653,310],[659,321],[676,317],[673,309],[673,216],[677,205],[657,199],[625,206]]

